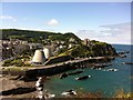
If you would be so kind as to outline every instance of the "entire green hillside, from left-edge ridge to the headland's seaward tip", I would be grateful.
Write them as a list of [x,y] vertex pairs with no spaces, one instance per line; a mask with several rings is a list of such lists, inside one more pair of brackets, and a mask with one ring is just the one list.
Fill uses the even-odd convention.
[[[115,56],[115,49],[105,42],[92,40],[90,46],[86,47],[82,43],[82,40],[74,33],[57,33],[49,31],[30,31],[30,30],[17,30],[17,29],[3,29],[2,39],[20,39],[29,42],[40,42],[43,44],[52,44],[52,41],[63,41],[65,48],[59,49],[58,54],[65,54],[71,57],[102,57],[102,56]],[[47,42],[47,43],[45,43]],[[50,42],[50,43],[49,43]],[[72,43],[73,47],[69,48]],[[60,43],[59,46],[60,47]],[[57,48],[58,48],[57,47]]]

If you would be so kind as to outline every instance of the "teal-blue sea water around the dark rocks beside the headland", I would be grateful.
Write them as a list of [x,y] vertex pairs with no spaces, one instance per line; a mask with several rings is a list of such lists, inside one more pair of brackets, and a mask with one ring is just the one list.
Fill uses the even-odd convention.
[[[69,89],[80,90],[84,92],[95,92],[101,91],[105,97],[112,97],[115,94],[116,90],[123,89],[125,92],[131,91],[131,64],[122,64],[122,62],[133,62],[131,46],[126,44],[113,44],[117,52],[130,51],[126,53],[126,58],[115,58],[108,64],[112,64],[101,70],[95,70],[91,68],[78,69],[83,70],[80,74],[69,76],[68,78],[60,79],[59,77],[53,77],[51,80],[44,82],[44,90],[61,97],[61,93]],[[117,69],[117,71],[105,71],[108,69]],[[72,72],[68,71],[68,72]],[[75,71],[75,70],[74,70]],[[86,80],[74,80],[74,78],[82,76],[91,76]]]

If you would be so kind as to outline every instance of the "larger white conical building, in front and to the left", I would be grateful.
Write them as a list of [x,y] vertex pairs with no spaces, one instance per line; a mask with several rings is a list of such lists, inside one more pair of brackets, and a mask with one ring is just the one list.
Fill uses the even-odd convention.
[[44,52],[42,50],[35,50],[32,62],[42,64],[45,61]]

